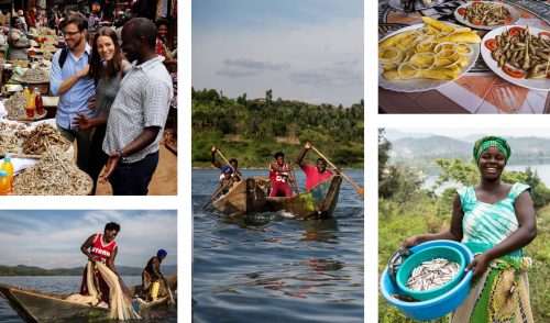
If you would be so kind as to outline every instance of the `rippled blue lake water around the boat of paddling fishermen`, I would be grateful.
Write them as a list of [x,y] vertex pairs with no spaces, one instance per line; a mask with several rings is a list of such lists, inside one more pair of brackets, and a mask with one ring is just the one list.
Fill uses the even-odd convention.
[[[345,174],[363,182],[363,170]],[[330,220],[227,218],[201,211],[219,175],[193,170],[194,322],[363,322],[364,210],[353,187],[342,182]]]

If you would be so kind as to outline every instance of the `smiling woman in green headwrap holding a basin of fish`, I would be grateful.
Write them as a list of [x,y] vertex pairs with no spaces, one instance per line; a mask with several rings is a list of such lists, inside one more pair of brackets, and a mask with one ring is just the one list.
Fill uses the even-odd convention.
[[474,271],[472,289],[451,322],[534,322],[526,272],[531,261],[522,248],[537,235],[536,214],[528,185],[501,181],[510,154],[505,138],[480,138],[473,148],[480,183],[458,190],[451,227],[402,244],[452,240],[475,255],[466,267]]

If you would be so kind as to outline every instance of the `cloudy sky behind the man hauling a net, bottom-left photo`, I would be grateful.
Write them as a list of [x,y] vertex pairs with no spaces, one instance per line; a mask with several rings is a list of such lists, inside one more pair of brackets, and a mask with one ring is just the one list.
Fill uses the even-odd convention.
[[74,268],[86,264],[82,243],[120,224],[116,266],[144,267],[164,248],[163,265],[177,264],[176,211],[0,211],[0,265]]

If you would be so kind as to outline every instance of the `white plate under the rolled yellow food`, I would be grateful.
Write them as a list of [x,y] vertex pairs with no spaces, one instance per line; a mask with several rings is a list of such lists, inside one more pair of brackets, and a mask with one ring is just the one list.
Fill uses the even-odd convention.
[[[413,30],[418,30],[426,26],[424,23],[419,24],[414,24],[408,27],[400,29],[398,31],[395,31],[391,33],[389,35],[385,36],[382,38],[380,42],[394,36],[396,34],[400,34],[403,32],[408,32]],[[380,44],[378,42],[378,44]],[[472,55],[470,55],[470,59],[468,60],[468,65],[462,68],[462,71],[459,74],[459,78],[461,78],[464,74],[466,74],[472,66],[474,66],[475,60],[477,59],[477,56],[480,56],[480,44],[466,44],[470,46],[470,48],[473,51]],[[405,79],[405,80],[386,80],[382,77],[382,74],[384,73],[384,69],[382,67],[378,67],[378,86],[383,87],[384,89],[396,91],[396,92],[421,92],[421,91],[428,91],[428,90],[433,90],[437,88],[440,88],[442,86],[446,86],[450,82],[453,82],[455,80],[437,80],[437,79],[429,79],[429,78],[414,78],[414,79]]]

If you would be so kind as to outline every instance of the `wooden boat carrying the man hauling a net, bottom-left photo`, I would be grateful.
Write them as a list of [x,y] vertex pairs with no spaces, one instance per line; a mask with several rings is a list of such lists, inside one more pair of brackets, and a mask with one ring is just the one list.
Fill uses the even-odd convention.
[[[177,274],[166,277],[172,290],[177,288]],[[141,292],[141,286],[129,287],[131,294]],[[161,283],[161,297],[156,301],[141,302],[140,312],[152,310],[158,305],[166,304],[169,297]],[[56,294],[21,287],[0,283],[0,297],[6,298],[8,303],[28,323],[58,322],[59,320],[74,318],[94,318],[95,320],[107,319],[109,309],[85,305],[66,301],[68,294]]]

